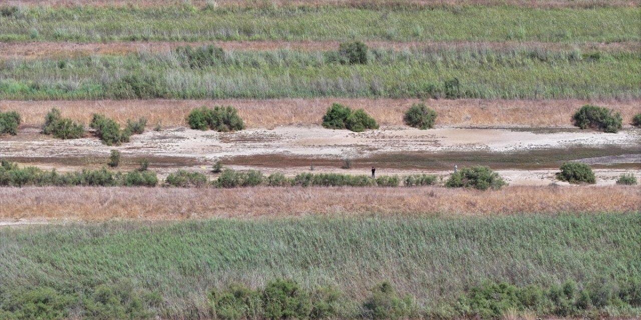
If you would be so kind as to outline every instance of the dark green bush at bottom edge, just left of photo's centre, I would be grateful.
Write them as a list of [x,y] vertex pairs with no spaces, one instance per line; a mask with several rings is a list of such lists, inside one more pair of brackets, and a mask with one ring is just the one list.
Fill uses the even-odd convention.
[[292,280],[275,280],[263,290],[265,317],[268,319],[304,319],[312,311],[308,292]]

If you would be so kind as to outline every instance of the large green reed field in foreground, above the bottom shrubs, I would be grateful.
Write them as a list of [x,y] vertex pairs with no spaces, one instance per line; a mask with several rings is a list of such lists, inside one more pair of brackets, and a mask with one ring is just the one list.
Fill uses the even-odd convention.
[[135,290],[160,294],[156,312],[167,317],[207,309],[206,294],[214,288],[231,282],[262,287],[276,278],[304,289],[337,287],[348,313],[383,280],[422,308],[453,305],[483,280],[522,287],[574,280],[579,288],[641,280],[640,212],[126,221],[0,230],[0,297],[42,287],[89,292],[127,281]]

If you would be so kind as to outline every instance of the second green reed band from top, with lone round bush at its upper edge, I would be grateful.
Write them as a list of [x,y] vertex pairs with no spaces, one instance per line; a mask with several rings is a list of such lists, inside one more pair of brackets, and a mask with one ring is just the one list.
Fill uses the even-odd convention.
[[[176,51],[10,59],[0,61],[0,99],[641,97],[641,56],[633,51],[470,45],[374,48],[367,65],[342,64],[337,57],[337,49],[279,49],[224,51],[202,63]],[[459,84],[448,88],[455,78]]]

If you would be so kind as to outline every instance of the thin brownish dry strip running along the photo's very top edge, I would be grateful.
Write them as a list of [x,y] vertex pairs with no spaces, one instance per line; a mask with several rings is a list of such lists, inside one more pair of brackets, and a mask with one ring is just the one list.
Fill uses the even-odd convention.
[[[192,0],[194,6],[202,7],[207,3],[213,6],[235,7],[265,7],[273,6],[344,6],[344,7],[372,7],[372,6],[456,6],[456,5],[515,5],[531,8],[594,8],[632,7],[638,4],[635,0]],[[167,6],[182,5],[183,0],[8,0],[8,5],[28,6]]]

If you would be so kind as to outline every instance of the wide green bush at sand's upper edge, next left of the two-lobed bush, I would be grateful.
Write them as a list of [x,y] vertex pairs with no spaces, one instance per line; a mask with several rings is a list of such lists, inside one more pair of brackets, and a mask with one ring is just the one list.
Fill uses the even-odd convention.
[[245,124],[238,115],[238,110],[232,106],[215,106],[193,109],[187,116],[191,129],[207,130],[210,128],[219,132],[245,129]]

